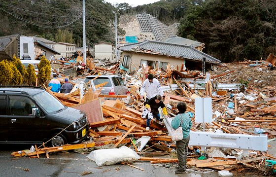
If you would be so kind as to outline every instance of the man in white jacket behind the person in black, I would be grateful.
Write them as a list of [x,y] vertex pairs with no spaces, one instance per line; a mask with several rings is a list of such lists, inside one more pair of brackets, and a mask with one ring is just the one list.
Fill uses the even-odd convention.
[[147,100],[155,97],[156,95],[161,95],[163,97],[163,90],[159,81],[153,77],[152,74],[148,74],[147,79],[143,82],[140,89],[140,95],[143,97],[146,93]]

